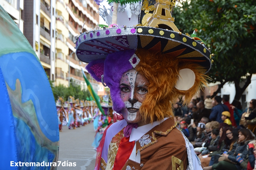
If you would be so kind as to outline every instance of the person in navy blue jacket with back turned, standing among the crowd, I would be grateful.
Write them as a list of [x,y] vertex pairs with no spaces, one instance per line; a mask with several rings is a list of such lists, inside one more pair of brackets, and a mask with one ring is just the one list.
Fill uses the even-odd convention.
[[210,121],[217,121],[219,123],[222,123],[223,120],[221,119],[221,113],[223,111],[229,111],[229,108],[221,103],[222,99],[220,96],[215,96],[214,102],[215,106],[211,109],[211,114],[210,114]]

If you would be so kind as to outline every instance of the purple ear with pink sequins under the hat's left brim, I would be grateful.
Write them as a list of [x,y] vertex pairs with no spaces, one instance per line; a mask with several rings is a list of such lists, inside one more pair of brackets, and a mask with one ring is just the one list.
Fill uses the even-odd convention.
[[105,59],[99,59],[89,62],[86,66],[88,73],[98,82],[101,82],[101,75],[104,74]]

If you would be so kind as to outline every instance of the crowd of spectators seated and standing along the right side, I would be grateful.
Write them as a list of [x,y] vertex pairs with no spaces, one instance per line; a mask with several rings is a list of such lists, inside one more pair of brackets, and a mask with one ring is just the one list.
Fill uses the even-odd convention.
[[178,128],[193,144],[204,170],[256,169],[256,100],[242,110],[229,96],[174,105]]

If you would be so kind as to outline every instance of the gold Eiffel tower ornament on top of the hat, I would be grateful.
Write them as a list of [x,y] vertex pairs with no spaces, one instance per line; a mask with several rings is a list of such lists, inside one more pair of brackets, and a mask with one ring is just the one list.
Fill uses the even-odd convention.
[[175,3],[176,0],[156,0],[153,14],[148,13],[144,15],[142,25],[169,30],[172,29],[175,32],[180,32],[174,24],[174,18],[171,16],[171,11],[175,7]]

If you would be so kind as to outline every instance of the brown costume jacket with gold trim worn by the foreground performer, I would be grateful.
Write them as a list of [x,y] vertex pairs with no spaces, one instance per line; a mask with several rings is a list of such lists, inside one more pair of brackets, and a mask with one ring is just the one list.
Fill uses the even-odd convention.
[[[149,130],[151,142],[142,144],[136,142],[136,150],[140,150],[141,163],[128,159],[122,170],[186,170],[188,165],[187,148],[181,131],[176,128],[172,118]],[[103,159],[101,163],[106,165]],[[105,166],[106,167],[106,166]],[[134,167],[134,169],[133,169]],[[105,170],[101,166],[102,170]],[[114,169],[116,170],[116,169]]]

